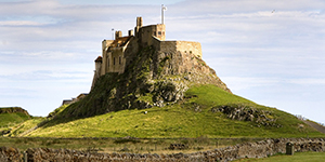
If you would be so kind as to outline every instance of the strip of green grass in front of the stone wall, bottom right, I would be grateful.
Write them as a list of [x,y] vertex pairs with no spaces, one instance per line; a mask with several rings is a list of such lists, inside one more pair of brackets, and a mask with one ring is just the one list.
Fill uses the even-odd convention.
[[278,154],[261,159],[243,159],[235,162],[324,162],[324,152],[295,152],[295,156]]

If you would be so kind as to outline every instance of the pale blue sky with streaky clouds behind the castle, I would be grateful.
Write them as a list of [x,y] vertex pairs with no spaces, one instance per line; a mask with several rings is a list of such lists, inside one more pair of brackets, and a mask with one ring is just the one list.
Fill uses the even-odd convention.
[[0,107],[47,116],[90,91],[112,29],[136,16],[202,43],[234,94],[325,123],[324,0],[0,0]]

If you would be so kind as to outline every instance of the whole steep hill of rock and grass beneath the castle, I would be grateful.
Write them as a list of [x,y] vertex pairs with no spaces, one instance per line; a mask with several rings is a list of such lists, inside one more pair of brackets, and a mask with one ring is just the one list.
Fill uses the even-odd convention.
[[47,121],[26,136],[324,136],[292,114],[232,94],[200,57],[152,46],[134,55],[123,73],[102,76],[88,96]]

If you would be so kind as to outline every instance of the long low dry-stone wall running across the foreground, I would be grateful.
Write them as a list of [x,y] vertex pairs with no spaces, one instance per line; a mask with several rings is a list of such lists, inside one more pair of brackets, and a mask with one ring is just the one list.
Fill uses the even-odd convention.
[[266,139],[257,143],[246,143],[225,148],[214,149],[210,151],[200,151],[195,153],[173,153],[173,154],[156,154],[156,153],[96,153],[68,149],[50,149],[50,148],[30,148],[26,151],[26,156],[14,148],[0,148],[0,161],[23,161],[27,157],[28,162],[41,161],[176,161],[176,162],[194,162],[194,161],[221,161],[227,162],[244,158],[265,158],[275,153],[285,153],[286,144],[292,143],[296,152],[304,151],[325,151],[325,139]]

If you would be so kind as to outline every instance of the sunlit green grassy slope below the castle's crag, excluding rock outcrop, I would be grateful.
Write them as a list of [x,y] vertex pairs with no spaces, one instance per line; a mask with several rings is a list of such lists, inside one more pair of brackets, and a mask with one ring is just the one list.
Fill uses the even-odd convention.
[[[309,137],[323,136],[296,117],[257,105],[214,85],[200,85],[187,91],[183,103],[164,108],[121,110],[74,121],[54,120],[29,134],[41,137]],[[195,96],[195,97],[193,97]],[[273,112],[283,127],[257,126],[253,122],[227,119],[211,112],[213,106],[246,104]],[[199,106],[199,111],[194,109]],[[145,114],[144,111],[147,111]],[[303,129],[299,129],[303,124]]]

